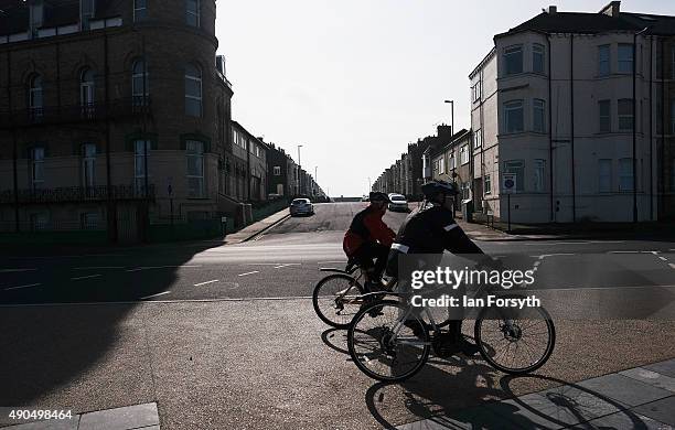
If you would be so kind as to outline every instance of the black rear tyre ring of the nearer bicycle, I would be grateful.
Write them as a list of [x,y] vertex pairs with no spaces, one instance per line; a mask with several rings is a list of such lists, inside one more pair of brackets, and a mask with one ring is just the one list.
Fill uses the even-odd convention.
[[368,367],[366,367],[363,364],[363,362],[361,361],[361,357],[357,355],[357,352],[355,350],[354,336],[355,336],[355,333],[356,333],[356,331],[358,329],[358,323],[363,319],[365,319],[365,318],[373,318],[373,316],[371,316],[371,311],[373,311],[375,309],[379,309],[382,311],[384,309],[384,307],[398,308],[403,312],[405,312],[407,310],[407,305],[405,305],[405,304],[403,304],[400,302],[394,301],[394,300],[381,300],[381,301],[374,302],[374,303],[372,303],[372,304],[369,304],[367,307],[364,307],[354,316],[354,320],[352,321],[352,324],[350,325],[350,327],[347,330],[347,348],[350,351],[350,356],[352,357],[352,361],[354,362],[354,364],[356,364],[356,367],[358,367],[358,369],[361,372],[363,372],[365,375],[369,376],[373,379],[377,379],[377,380],[381,380],[381,381],[387,381],[387,383],[401,381],[401,380],[408,379],[411,376],[414,376],[415,374],[417,374],[424,367],[424,365],[427,363],[427,361],[429,359],[429,353],[431,351],[431,345],[430,345],[430,342],[429,342],[429,329],[427,327],[426,324],[424,324],[421,319],[415,318],[416,321],[418,321],[420,323],[420,325],[421,325],[422,334],[424,334],[424,338],[421,341],[425,342],[425,346],[424,346],[421,356],[417,361],[417,364],[410,370],[405,372],[403,374],[394,375],[394,376],[387,376],[387,375],[382,375],[382,374],[372,372]]

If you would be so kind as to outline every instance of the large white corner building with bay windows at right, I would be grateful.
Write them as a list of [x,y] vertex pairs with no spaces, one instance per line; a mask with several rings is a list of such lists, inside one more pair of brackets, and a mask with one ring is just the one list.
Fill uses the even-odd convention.
[[599,13],[550,7],[495,35],[469,76],[476,209],[507,218],[508,172],[515,223],[673,216],[673,34],[674,17],[612,1]]

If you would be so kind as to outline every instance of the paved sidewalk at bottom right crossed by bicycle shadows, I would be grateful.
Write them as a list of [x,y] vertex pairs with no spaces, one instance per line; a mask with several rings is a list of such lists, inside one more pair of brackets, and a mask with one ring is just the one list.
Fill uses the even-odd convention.
[[675,429],[675,358],[399,426],[442,429]]

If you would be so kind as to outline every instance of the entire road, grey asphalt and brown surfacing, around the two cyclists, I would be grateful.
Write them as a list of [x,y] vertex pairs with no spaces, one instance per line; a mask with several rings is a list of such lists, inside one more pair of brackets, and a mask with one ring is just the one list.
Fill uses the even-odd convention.
[[[320,204],[240,245],[1,256],[0,405],[84,412],[157,402],[164,430],[377,429],[675,356],[675,244],[479,241],[503,259],[538,261],[543,289],[583,286],[599,304],[638,291],[656,305],[633,308],[657,318],[574,318],[559,301],[556,350],[537,375],[432,358],[405,384],[376,384],[308,300],[318,268],[344,264],[342,235],[361,207]],[[385,221],[396,228],[405,216]]]

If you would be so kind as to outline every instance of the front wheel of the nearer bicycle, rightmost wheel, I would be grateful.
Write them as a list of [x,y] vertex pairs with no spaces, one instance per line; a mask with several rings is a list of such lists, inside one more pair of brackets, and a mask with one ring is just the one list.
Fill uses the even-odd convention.
[[542,367],[556,344],[556,329],[544,308],[483,308],[475,320],[474,335],[483,358],[497,370],[511,375]]

